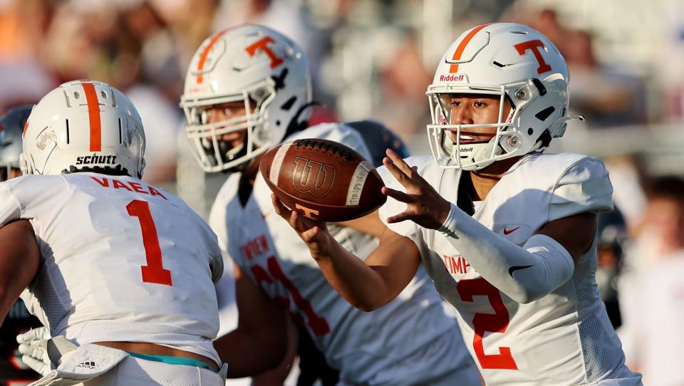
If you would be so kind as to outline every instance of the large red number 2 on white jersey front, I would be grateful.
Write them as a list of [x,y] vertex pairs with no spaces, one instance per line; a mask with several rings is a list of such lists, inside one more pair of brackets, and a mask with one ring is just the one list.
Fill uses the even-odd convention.
[[505,333],[508,328],[509,315],[499,290],[492,286],[484,278],[461,279],[456,287],[462,301],[472,302],[473,296],[487,296],[489,303],[494,308],[494,314],[476,313],[472,318],[472,326],[475,328],[475,338],[472,340],[477,361],[483,369],[506,369],[518,370],[518,366],[511,355],[511,348],[499,347],[498,354],[487,355],[484,353],[482,336],[485,332]]

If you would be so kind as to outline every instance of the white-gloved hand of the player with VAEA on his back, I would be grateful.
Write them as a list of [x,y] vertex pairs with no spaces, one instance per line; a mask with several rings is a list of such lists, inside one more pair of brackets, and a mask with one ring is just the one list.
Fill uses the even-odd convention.
[[62,335],[52,338],[45,327],[16,335],[16,343],[19,343],[21,360],[43,377],[56,369],[63,355],[76,349],[76,345]]

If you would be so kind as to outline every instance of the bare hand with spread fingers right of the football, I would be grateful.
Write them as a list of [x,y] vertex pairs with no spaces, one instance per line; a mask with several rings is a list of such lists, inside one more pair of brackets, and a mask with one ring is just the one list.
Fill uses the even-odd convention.
[[406,192],[383,187],[383,194],[407,205],[404,212],[389,217],[388,224],[411,220],[427,229],[439,229],[449,216],[451,204],[418,175],[417,168],[409,167],[392,150],[388,149],[386,154],[383,165],[403,185]]

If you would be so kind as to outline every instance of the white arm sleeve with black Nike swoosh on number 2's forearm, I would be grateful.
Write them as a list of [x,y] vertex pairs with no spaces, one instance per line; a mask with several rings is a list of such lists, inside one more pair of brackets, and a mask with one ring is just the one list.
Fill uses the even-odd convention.
[[439,230],[484,279],[519,303],[554,291],[574,271],[568,251],[549,236],[534,235],[524,246],[517,246],[454,204]]

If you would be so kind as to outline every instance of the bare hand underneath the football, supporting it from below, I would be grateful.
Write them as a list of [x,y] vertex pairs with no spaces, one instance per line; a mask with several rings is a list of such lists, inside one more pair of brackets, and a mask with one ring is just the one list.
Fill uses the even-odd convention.
[[276,197],[271,194],[271,201],[276,214],[285,219],[294,229],[299,237],[309,247],[311,256],[314,259],[321,259],[330,256],[331,239],[333,238],[328,233],[328,226],[325,221],[316,221],[302,216],[299,212],[287,209],[287,207]]

